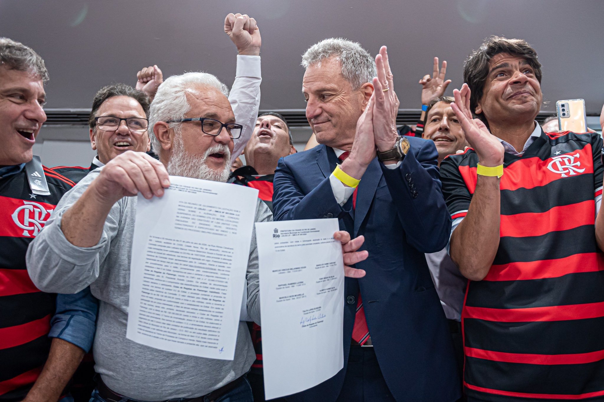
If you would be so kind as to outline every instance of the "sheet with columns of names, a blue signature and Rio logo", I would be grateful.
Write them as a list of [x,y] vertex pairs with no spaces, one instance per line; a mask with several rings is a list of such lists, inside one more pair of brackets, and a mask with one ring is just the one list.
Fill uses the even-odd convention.
[[266,399],[301,392],[344,366],[344,262],[338,219],[257,222]]

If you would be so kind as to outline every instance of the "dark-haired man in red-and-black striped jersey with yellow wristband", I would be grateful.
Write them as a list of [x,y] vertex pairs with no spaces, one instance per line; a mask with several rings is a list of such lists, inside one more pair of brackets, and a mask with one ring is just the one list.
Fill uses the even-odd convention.
[[602,138],[542,131],[541,64],[524,40],[487,39],[464,81],[452,108],[471,149],[440,175],[469,279],[468,400],[604,400]]

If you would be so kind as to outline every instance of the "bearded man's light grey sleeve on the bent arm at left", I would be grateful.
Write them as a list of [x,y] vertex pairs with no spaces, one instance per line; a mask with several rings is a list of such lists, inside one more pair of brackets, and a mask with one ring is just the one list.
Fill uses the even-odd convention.
[[112,207],[101,239],[93,247],[72,245],[61,230],[61,219],[92,180],[98,177],[99,172],[97,169],[89,173],[61,198],[51,218],[30,243],[26,257],[27,271],[36,287],[43,292],[77,293],[98,277],[100,263],[107,256],[111,239],[118,230],[124,198]]

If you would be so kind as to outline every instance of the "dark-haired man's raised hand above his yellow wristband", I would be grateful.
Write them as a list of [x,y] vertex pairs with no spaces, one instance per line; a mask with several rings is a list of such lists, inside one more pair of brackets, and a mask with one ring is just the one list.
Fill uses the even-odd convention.
[[467,84],[461,90],[454,89],[455,102],[451,108],[461,122],[467,143],[478,154],[478,163],[483,166],[499,166],[503,164],[504,148],[500,140],[489,132],[489,129],[480,119],[472,119],[470,112],[470,88]]

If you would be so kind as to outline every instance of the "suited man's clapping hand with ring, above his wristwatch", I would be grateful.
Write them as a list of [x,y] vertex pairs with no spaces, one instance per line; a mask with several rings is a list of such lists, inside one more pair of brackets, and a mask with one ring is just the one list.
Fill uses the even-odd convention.
[[373,78],[373,132],[377,150],[384,152],[394,147],[399,135],[396,131],[396,115],[400,103],[394,93],[394,77],[386,46],[382,46],[376,55],[376,67],[377,77]]

